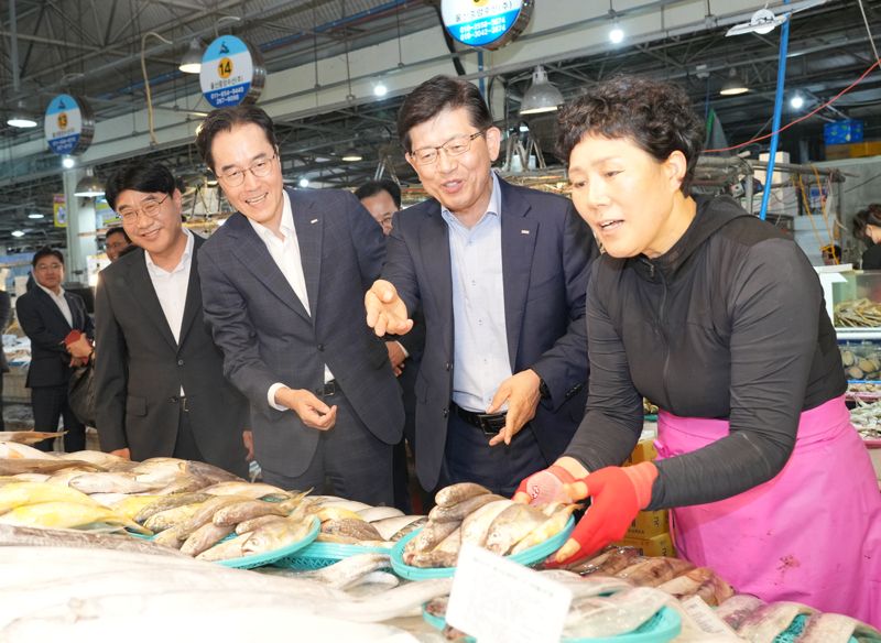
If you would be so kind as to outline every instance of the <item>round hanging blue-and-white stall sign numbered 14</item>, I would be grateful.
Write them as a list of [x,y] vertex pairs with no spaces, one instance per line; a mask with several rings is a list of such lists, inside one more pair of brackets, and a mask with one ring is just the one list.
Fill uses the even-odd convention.
[[259,52],[233,35],[216,39],[202,57],[199,85],[211,107],[255,102],[265,78]]

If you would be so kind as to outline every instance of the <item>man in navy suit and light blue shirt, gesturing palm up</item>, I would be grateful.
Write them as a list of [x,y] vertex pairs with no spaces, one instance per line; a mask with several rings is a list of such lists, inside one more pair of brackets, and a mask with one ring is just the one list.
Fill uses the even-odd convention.
[[398,115],[433,197],[395,215],[382,280],[365,297],[378,336],[422,306],[416,472],[513,493],[563,453],[584,415],[585,295],[596,243],[570,201],[492,171],[501,132],[470,83],[436,76]]

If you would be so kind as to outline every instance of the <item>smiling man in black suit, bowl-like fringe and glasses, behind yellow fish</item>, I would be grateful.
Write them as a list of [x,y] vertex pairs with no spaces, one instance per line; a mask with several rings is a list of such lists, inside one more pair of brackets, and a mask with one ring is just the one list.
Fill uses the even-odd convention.
[[101,271],[95,316],[96,423],[101,448],[173,456],[244,476],[244,399],[225,379],[202,313],[197,251],[181,192],[155,162],[108,182],[107,203],[138,249]]

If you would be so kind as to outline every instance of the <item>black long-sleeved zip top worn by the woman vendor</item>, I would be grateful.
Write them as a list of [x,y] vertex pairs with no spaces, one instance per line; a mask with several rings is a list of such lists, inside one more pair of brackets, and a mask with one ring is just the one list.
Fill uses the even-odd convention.
[[595,263],[587,296],[590,386],[566,455],[620,465],[642,428],[642,397],[730,433],[657,462],[649,509],[722,500],[773,478],[802,411],[847,388],[835,329],[807,258],[732,199],[700,198],[662,257]]

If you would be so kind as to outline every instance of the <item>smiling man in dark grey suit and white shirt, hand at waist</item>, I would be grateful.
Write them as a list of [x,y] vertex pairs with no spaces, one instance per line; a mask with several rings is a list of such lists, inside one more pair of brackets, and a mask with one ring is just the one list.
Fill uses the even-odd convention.
[[382,341],[363,325],[363,290],[384,257],[354,195],[286,190],[272,120],[213,111],[196,139],[238,212],[199,254],[205,317],[227,377],[251,403],[267,482],[392,503],[403,407]]

